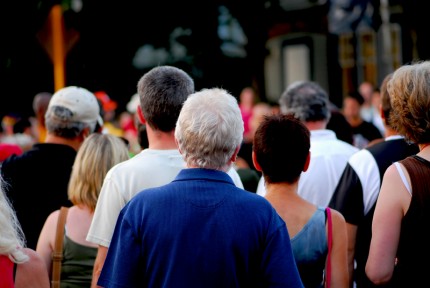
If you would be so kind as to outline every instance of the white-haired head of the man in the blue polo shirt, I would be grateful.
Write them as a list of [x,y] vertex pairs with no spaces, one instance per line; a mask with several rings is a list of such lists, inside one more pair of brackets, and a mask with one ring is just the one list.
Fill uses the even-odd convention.
[[224,89],[212,88],[188,97],[175,137],[188,166],[227,171],[243,131],[237,99]]

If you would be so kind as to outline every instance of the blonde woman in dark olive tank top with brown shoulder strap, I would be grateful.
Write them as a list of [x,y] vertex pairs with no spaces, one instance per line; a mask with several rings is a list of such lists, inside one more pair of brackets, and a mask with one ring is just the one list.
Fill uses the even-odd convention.
[[[114,165],[129,159],[125,142],[110,134],[91,134],[78,150],[68,187],[73,206],[68,209],[63,238],[61,287],[90,287],[97,246],[86,241],[104,178]],[[60,210],[46,219],[36,251],[52,270]],[[52,276],[51,276],[52,278]]]

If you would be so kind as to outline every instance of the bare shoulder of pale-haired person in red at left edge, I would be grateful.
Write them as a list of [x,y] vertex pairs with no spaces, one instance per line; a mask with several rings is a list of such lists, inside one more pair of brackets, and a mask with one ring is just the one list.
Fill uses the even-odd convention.
[[50,286],[48,270],[42,257],[30,248],[24,248],[24,252],[30,259],[18,264],[15,287],[48,288]]

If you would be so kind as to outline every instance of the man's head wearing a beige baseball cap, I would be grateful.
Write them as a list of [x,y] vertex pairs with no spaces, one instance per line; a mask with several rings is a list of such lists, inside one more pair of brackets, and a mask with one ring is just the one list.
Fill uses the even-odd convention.
[[49,133],[73,139],[85,128],[94,132],[97,123],[103,125],[100,106],[93,93],[82,87],[69,86],[52,95],[45,114]]

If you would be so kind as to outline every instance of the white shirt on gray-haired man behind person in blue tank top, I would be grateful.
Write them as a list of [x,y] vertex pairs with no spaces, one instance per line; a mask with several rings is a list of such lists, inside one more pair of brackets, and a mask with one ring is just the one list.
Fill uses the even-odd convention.
[[[311,131],[311,161],[299,180],[298,194],[314,205],[327,207],[352,154],[359,151],[351,144],[336,138],[332,130]],[[261,177],[257,194],[264,196],[264,177]]]

